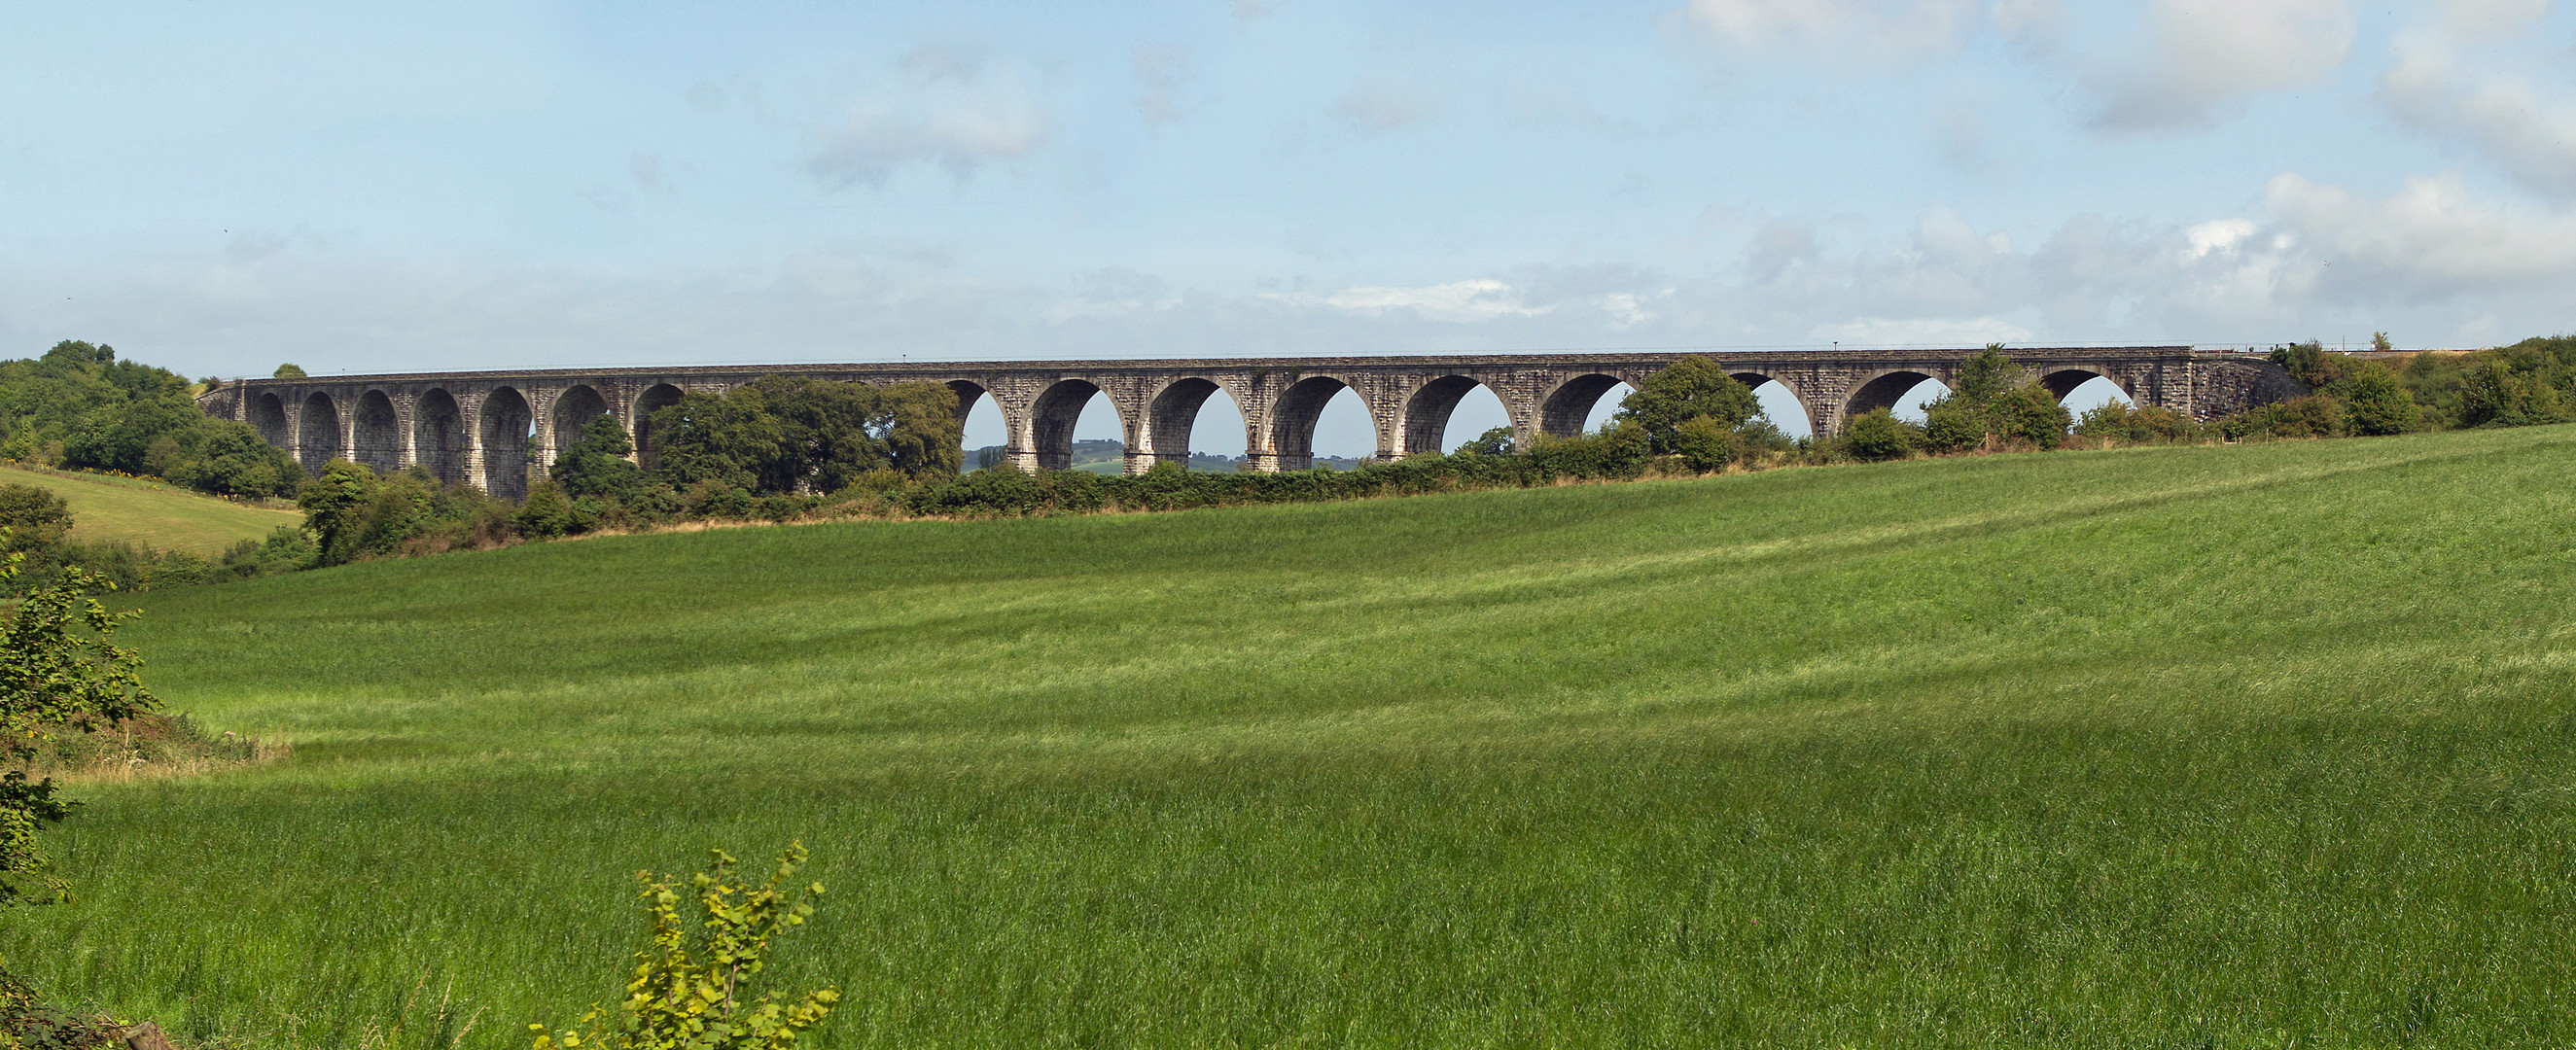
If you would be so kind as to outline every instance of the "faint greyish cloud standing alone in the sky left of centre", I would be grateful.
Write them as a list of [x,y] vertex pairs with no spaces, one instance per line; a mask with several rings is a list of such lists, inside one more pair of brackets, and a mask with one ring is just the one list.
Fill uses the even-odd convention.
[[832,188],[886,185],[896,170],[927,162],[963,180],[1046,144],[1048,118],[1018,67],[938,46],[914,49],[899,67],[912,90],[853,103],[806,160],[814,178]]

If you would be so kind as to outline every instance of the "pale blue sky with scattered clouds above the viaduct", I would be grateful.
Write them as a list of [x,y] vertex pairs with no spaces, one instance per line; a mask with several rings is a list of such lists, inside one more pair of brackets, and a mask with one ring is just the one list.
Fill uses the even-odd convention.
[[5,26],[5,353],[85,337],[196,376],[2442,347],[2563,332],[2576,299],[2576,18],[2545,0]]

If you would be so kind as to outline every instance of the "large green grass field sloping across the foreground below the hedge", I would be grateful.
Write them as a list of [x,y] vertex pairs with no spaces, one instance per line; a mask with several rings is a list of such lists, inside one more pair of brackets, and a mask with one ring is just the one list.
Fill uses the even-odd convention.
[[[824,1047],[2576,1042],[2576,427],[809,525],[144,597],[59,999],[526,1045],[791,836]],[[440,1009],[438,1001],[446,1001]]]

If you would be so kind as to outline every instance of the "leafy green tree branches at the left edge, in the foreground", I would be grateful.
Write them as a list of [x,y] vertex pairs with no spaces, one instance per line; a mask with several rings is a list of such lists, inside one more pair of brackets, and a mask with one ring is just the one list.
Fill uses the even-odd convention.
[[[0,589],[18,582],[23,551],[0,558]],[[116,584],[64,566],[0,620],[0,762],[21,764],[52,744],[57,726],[118,723],[160,705],[142,682],[142,656],[108,638],[142,612],[108,612],[95,594]],[[54,777],[0,775],[0,903],[62,898],[62,883],[39,878],[46,857],[36,831],[72,813]]]

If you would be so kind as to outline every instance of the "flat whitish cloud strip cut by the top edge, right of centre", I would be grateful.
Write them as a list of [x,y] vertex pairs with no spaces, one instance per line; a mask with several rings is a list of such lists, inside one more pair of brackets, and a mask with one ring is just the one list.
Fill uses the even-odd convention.
[[1690,0],[1692,31],[1747,54],[1852,54],[1901,59],[1960,44],[1971,0]]

